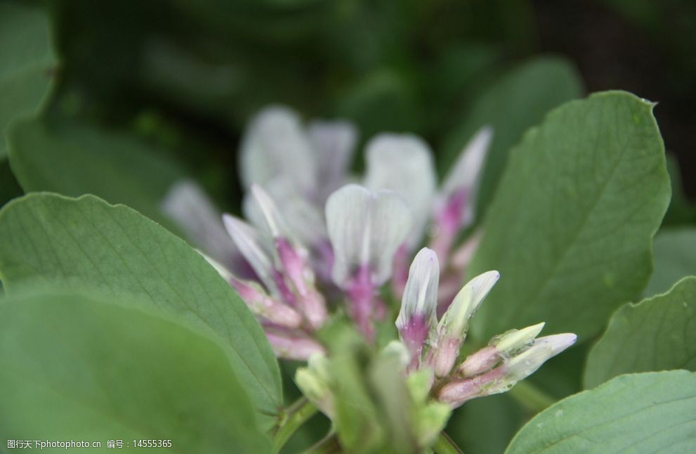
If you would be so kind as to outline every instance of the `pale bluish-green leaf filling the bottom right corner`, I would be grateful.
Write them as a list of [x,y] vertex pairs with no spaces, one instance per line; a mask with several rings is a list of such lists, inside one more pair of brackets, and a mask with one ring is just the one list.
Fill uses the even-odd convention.
[[563,399],[520,429],[516,453],[692,453],[696,374],[622,375]]

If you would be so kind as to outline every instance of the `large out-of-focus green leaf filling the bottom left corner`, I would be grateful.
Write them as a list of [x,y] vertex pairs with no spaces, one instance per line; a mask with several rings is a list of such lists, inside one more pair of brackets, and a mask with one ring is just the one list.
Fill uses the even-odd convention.
[[73,439],[109,452],[107,440],[155,439],[171,440],[166,452],[270,452],[221,346],[110,304],[120,301],[66,292],[1,300],[2,445]]

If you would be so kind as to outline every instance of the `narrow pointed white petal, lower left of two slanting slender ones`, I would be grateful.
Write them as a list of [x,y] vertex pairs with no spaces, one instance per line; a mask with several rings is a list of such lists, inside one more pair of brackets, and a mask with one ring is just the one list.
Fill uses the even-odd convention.
[[223,214],[223,223],[261,282],[272,294],[277,294],[273,280],[273,255],[268,238],[261,238],[253,227],[230,214]]

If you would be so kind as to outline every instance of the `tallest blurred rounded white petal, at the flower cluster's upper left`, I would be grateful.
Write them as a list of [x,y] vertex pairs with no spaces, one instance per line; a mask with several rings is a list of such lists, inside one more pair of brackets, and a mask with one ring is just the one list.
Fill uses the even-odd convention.
[[296,112],[282,106],[259,112],[242,139],[239,169],[247,187],[263,185],[282,174],[302,193],[315,190],[316,162]]

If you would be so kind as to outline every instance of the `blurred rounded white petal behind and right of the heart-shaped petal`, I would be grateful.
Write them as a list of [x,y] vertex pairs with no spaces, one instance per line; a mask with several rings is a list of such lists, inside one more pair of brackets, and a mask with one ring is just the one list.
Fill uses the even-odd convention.
[[390,189],[404,197],[414,215],[409,245],[420,242],[430,219],[436,179],[433,155],[419,137],[407,134],[381,134],[367,144],[369,190]]

